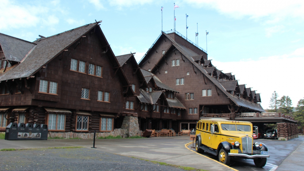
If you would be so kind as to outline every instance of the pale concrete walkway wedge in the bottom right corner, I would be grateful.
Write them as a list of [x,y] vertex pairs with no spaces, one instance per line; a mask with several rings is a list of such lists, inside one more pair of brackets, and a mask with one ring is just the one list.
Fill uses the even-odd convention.
[[276,170],[304,170],[303,154],[304,142],[300,144],[298,148],[296,148],[295,151],[293,151],[285,160],[283,160]]

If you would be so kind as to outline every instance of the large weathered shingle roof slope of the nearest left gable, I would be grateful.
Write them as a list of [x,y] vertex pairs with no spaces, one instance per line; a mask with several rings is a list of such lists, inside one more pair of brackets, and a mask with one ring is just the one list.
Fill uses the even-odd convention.
[[88,24],[35,41],[34,43],[37,43],[35,49],[14,69],[2,73],[0,81],[29,77],[97,25],[98,23]]

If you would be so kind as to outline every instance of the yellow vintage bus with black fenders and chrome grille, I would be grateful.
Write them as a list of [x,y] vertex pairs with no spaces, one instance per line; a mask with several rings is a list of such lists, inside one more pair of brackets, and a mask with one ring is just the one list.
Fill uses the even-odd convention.
[[219,157],[219,162],[229,165],[230,159],[253,159],[257,167],[264,167],[268,149],[263,143],[253,143],[252,124],[226,119],[202,119],[196,126],[195,150]]

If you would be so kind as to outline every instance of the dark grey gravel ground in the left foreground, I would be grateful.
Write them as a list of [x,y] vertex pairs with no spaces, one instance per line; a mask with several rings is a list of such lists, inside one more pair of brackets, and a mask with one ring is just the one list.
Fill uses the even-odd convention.
[[90,148],[0,151],[0,171],[6,170],[182,170]]

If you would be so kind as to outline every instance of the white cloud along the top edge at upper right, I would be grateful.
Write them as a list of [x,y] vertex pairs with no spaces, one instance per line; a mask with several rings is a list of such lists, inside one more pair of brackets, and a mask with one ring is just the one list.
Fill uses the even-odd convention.
[[258,19],[261,17],[272,17],[273,21],[281,17],[304,17],[304,1],[282,1],[282,0],[184,0],[185,3],[195,7],[207,7],[218,10],[222,14],[228,14],[234,18]]

